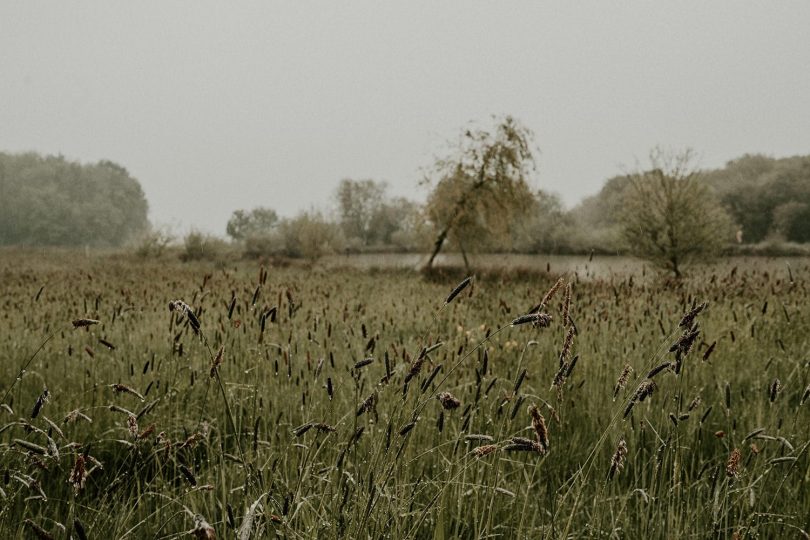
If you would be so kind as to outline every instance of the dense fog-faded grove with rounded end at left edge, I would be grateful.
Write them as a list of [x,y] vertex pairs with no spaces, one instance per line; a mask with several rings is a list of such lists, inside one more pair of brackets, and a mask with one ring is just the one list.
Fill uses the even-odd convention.
[[110,161],[0,153],[0,245],[121,246],[148,229],[147,209]]

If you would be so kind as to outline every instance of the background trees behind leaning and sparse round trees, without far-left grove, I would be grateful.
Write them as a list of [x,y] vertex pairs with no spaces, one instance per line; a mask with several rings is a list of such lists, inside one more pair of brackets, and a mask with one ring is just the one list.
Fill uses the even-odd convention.
[[[526,191],[518,214],[504,213],[508,222],[493,226],[469,212],[463,236],[449,249],[478,252],[518,253],[626,253],[622,234],[626,200],[633,174],[608,179],[602,189],[574,208],[564,208],[560,198],[546,191]],[[699,171],[705,184],[728,214],[733,232],[727,252],[794,253],[804,252],[810,242],[810,156],[771,158],[745,155],[715,170]],[[244,246],[250,256],[283,254],[317,256],[328,252],[429,251],[435,239],[437,218],[447,213],[447,202],[458,194],[445,193],[437,186],[426,205],[402,197],[390,197],[387,186],[373,180],[340,182],[331,215],[303,213],[292,220],[279,219],[266,208],[234,213],[227,233]],[[486,199],[484,199],[486,200]],[[444,204],[443,204],[444,203]],[[438,209],[438,210],[437,210]],[[268,214],[272,219],[267,219]],[[497,215],[497,209],[491,214]],[[331,226],[329,224],[331,223]],[[318,241],[314,230],[328,235]],[[493,228],[502,229],[493,234]],[[297,240],[301,230],[311,234],[302,247]],[[305,235],[306,236],[306,235]],[[213,239],[212,239],[213,240]]]

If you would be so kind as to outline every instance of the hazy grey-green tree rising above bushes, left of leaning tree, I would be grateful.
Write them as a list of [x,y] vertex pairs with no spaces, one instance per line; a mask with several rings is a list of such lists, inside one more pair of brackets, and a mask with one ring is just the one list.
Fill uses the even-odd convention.
[[378,240],[372,224],[385,204],[386,184],[374,180],[344,178],[337,188],[340,226],[347,239],[356,238],[363,246]]

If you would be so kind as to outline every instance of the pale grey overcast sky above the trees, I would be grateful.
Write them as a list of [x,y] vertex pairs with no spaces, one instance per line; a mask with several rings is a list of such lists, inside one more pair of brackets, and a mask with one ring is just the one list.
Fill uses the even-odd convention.
[[418,181],[470,122],[536,136],[568,206],[651,147],[810,153],[810,2],[0,3],[0,151],[110,159],[150,218]]

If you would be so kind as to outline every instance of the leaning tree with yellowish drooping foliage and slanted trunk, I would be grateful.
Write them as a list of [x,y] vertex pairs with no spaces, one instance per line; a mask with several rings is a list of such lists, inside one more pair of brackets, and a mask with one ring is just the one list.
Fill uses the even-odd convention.
[[469,249],[508,247],[512,224],[532,206],[532,140],[527,128],[507,116],[492,132],[467,130],[459,147],[436,162],[438,181],[427,202],[436,240],[426,269],[448,241],[468,268]]

